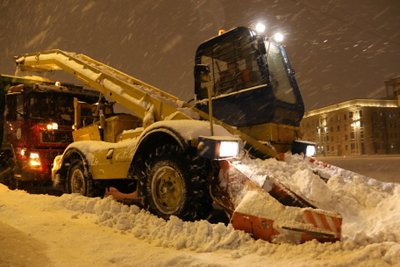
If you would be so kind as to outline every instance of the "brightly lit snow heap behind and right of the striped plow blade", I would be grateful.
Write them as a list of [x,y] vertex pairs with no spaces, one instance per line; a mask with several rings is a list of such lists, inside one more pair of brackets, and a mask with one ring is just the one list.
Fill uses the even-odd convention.
[[236,165],[259,185],[278,179],[301,193],[318,208],[343,217],[342,239],[352,246],[379,242],[400,243],[400,185],[384,183],[329,166],[325,183],[301,156],[286,155],[285,161],[244,160]]

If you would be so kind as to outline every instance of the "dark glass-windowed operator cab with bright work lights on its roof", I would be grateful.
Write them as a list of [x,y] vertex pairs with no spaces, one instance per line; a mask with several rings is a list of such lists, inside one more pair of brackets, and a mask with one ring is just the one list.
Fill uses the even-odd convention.
[[195,64],[199,109],[208,111],[210,92],[214,117],[230,125],[299,126],[303,100],[282,45],[238,27],[201,44]]

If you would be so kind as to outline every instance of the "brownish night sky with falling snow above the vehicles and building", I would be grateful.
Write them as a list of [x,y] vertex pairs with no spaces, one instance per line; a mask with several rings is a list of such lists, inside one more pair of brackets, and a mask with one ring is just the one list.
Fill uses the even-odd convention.
[[400,75],[400,0],[0,0],[0,73],[60,48],[189,100],[197,46],[258,21],[285,34],[307,110],[384,97]]

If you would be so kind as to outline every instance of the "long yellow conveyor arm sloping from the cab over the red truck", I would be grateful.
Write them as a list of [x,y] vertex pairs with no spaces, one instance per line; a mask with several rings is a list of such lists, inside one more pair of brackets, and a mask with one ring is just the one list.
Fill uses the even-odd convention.
[[[83,54],[54,49],[18,56],[16,64],[21,71],[63,70],[68,72],[106,97],[123,105],[141,119],[144,119],[146,111],[152,110],[152,108],[155,121],[195,119],[188,115],[193,113],[203,120],[209,119],[207,113],[177,97]],[[188,114],[183,112],[187,109],[191,110]],[[272,145],[264,144],[216,118],[213,118],[213,122],[223,126],[231,134],[239,136],[247,145],[262,155],[278,156]]]

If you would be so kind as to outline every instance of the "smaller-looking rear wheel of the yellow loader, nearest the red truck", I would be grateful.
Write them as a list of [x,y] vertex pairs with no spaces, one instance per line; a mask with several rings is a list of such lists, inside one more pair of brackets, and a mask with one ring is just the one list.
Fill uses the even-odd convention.
[[67,193],[77,193],[83,196],[96,196],[93,180],[86,170],[82,160],[74,160],[68,170],[66,179]]

